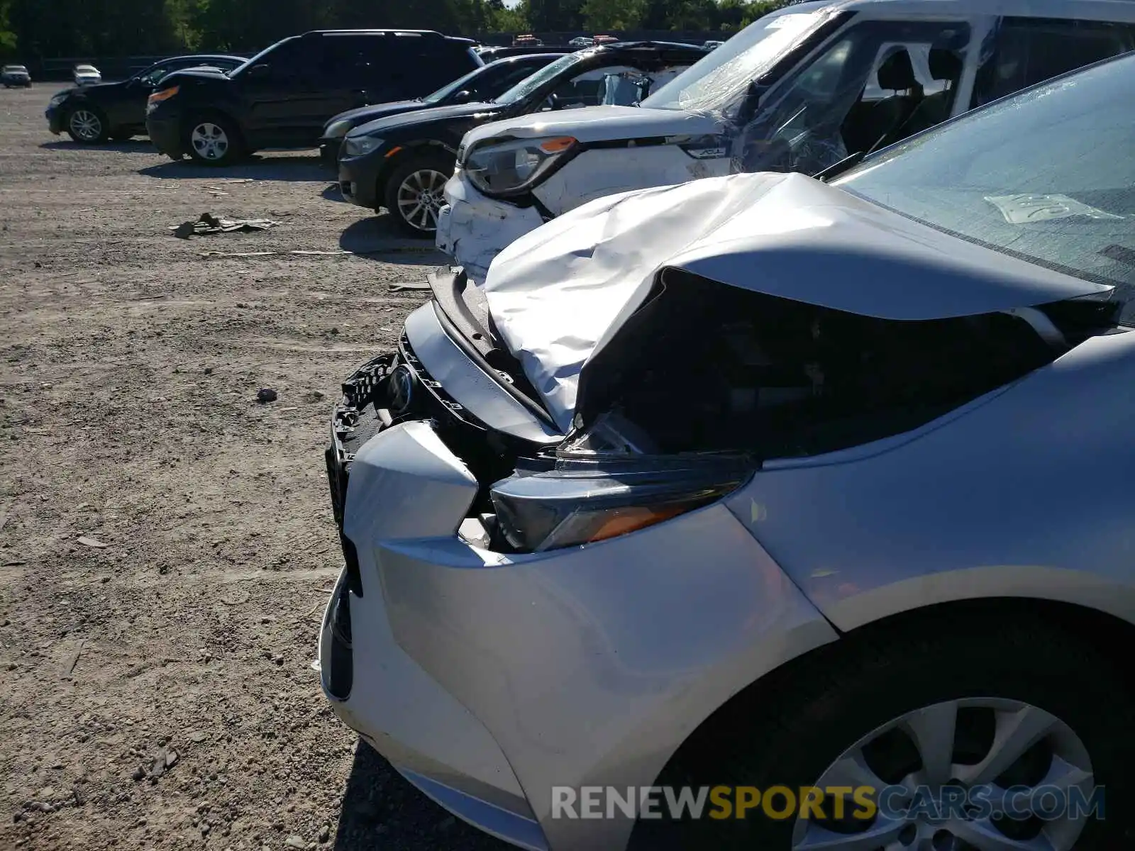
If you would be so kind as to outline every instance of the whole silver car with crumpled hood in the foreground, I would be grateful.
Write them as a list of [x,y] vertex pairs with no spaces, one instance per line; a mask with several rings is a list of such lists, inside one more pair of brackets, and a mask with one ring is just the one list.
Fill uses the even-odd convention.
[[1132,848],[1133,102],[435,277],[333,421],[335,711],[520,848]]

